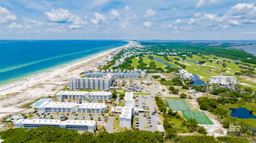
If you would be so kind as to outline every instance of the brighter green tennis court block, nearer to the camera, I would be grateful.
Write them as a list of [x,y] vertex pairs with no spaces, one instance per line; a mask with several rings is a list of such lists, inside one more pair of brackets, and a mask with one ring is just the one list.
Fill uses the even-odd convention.
[[198,124],[213,124],[212,121],[204,114],[204,112],[188,112],[182,111],[186,119],[196,119]]

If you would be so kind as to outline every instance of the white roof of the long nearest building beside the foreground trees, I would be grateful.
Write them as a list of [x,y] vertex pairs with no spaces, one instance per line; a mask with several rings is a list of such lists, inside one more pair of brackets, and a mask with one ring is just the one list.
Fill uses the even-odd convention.
[[14,124],[41,124],[41,125],[88,125],[94,126],[94,120],[73,120],[61,121],[60,119],[18,119]]

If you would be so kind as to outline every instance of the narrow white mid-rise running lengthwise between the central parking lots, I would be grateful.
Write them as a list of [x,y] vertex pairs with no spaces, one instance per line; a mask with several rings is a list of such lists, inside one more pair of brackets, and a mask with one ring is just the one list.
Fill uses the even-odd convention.
[[133,92],[125,92],[124,94],[124,108],[119,116],[120,127],[131,128],[132,116],[135,114],[135,100],[133,99]]

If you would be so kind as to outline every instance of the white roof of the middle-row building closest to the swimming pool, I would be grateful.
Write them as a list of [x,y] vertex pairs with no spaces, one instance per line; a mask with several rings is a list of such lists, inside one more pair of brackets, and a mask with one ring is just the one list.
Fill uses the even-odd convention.
[[73,108],[74,106],[77,106],[75,102],[44,102],[42,105],[38,106],[38,108]]

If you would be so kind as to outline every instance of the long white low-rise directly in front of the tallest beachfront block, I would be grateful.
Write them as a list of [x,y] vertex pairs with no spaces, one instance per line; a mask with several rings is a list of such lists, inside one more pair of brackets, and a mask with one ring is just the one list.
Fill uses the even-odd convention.
[[87,92],[87,91],[60,91],[56,94],[58,99],[93,99],[93,100],[109,100],[112,99],[111,92]]

